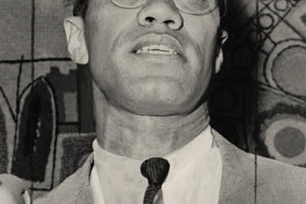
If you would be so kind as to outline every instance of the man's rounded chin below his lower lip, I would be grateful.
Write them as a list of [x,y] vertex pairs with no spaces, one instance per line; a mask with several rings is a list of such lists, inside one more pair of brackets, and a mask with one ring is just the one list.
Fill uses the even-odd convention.
[[193,101],[195,98],[176,83],[141,84],[131,90],[133,91],[124,97],[127,100],[121,100],[120,104],[139,115],[183,114],[196,104],[196,101]]

